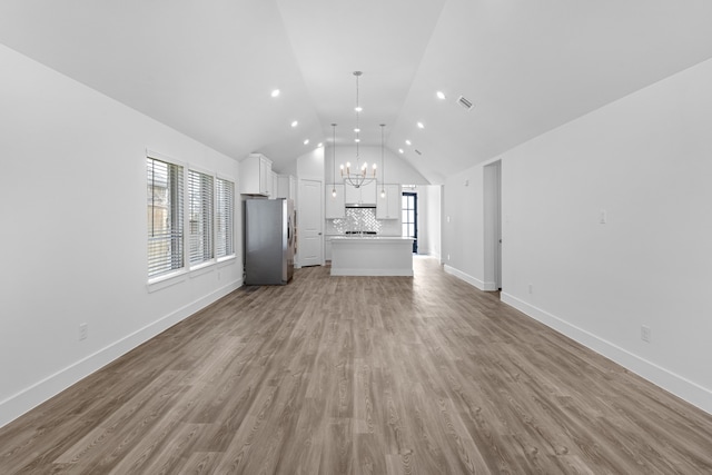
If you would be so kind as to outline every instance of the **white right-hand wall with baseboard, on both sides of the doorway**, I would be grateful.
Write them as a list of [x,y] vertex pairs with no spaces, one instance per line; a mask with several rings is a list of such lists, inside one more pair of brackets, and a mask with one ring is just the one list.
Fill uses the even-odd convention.
[[[711,83],[709,60],[502,160],[503,300],[710,413]],[[444,253],[473,276],[481,170],[445,186]]]

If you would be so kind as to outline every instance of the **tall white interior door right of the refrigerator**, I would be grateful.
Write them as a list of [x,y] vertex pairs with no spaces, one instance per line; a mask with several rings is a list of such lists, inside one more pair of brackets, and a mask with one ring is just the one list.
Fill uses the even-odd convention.
[[324,264],[324,197],[322,181],[299,180],[299,209],[297,211],[297,256],[299,265]]

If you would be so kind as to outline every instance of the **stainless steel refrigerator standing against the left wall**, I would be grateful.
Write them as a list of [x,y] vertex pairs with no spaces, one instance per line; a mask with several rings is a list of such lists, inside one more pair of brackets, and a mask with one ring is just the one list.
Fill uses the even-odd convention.
[[285,285],[294,275],[296,246],[290,199],[245,200],[245,284]]

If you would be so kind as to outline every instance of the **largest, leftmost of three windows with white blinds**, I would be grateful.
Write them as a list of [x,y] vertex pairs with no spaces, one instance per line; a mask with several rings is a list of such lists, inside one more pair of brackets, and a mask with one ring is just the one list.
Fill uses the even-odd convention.
[[184,267],[182,167],[147,157],[148,276]]

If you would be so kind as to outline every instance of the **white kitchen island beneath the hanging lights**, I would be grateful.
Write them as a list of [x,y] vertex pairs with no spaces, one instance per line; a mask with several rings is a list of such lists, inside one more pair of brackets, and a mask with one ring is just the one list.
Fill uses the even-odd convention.
[[333,276],[413,276],[413,238],[337,236],[332,238]]

